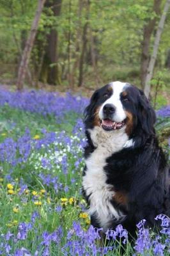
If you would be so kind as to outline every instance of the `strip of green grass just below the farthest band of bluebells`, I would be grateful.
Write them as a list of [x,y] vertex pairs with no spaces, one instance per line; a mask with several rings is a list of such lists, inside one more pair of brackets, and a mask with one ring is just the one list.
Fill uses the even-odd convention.
[[[31,132],[31,135],[41,134],[42,129],[47,132],[66,131],[72,133],[78,115],[70,111],[63,116],[63,120],[57,123],[54,115],[42,116],[38,113],[30,113],[20,109],[9,108],[8,105],[0,108],[0,142],[8,136],[19,138],[24,134],[26,127]],[[2,135],[5,133],[6,135]],[[4,137],[4,138],[3,138]]]

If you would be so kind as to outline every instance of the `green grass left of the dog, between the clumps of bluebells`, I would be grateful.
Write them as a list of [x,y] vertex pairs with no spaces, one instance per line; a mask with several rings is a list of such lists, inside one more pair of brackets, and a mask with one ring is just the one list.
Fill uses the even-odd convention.
[[[71,134],[76,118],[77,115],[75,113],[67,113],[63,122],[61,124],[57,124],[56,118],[52,115],[44,117],[35,113],[29,113],[19,109],[11,109],[8,108],[8,106],[4,106],[0,109],[0,142],[2,143],[6,138],[13,138],[14,140],[17,140],[24,134],[26,127],[30,130],[32,137],[38,134],[40,138],[42,138],[42,129],[45,129],[47,132],[66,131],[67,134]],[[50,150],[54,152],[55,148],[51,146]],[[64,191],[55,193],[52,186],[45,188],[38,177],[38,173],[42,172],[42,169],[40,168],[39,170],[35,170],[37,154],[39,153],[42,155],[45,154],[45,152],[46,148],[42,148],[42,150],[35,152],[35,154],[32,152],[32,161],[27,161],[24,164],[17,164],[17,166],[12,167],[11,164],[7,162],[1,163],[0,177],[3,179],[1,180],[0,186],[1,233],[6,233],[9,227],[11,228],[11,232],[16,233],[17,225],[15,225],[13,221],[16,220],[17,223],[29,221],[31,213],[35,210],[38,210],[41,216],[41,224],[39,223],[39,225],[41,225],[39,227],[40,233],[42,233],[42,230],[52,232],[59,225],[64,225],[66,226],[66,229],[68,229],[72,226],[73,220],[79,220],[79,213],[81,210],[77,208],[77,204],[75,204],[74,207],[73,204],[70,205],[69,203],[66,203],[66,205],[63,205],[64,211],[62,214],[58,214],[58,212],[54,211],[56,205],[61,205],[62,197],[66,197],[68,199],[70,197],[77,198],[76,200],[79,200],[79,202],[81,200],[79,195],[81,173],[79,173],[79,179],[77,179],[77,182],[74,185],[70,182],[71,178],[75,176],[71,175],[75,159],[72,161],[72,155],[70,154],[68,175],[64,175],[61,170],[53,170],[53,173],[50,173],[48,170],[43,170],[43,173],[50,173],[54,176],[58,175],[59,182],[63,183],[63,186],[69,186],[69,191],[67,193]],[[6,188],[7,184],[10,182],[5,179],[5,175],[8,175],[11,169],[13,171],[12,178],[15,182],[13,189],[15,193],[14,195],[8,195],[8,189]],[[24,180],[24,183],[27,184],[29,189],[29,194],[24,196],[24,198],[27,199],[26,204],[22,203],[22,196],[19,196],[18,189],[20,188],[19,182],[21,179]],[[33,191],[37,191],[37,193],[40,194],[41,189],[45,189],[47,194],[42,195],[41,198],[37,198],[38,201],[42,202],[42,206],[37,206],[32,202],[33,195],[31,193]],[[13,212],[13,207],[18,207],[19,212]],[[30,241],[28,239],[29,242],[24,243],[24,246],[29,248],[29,250],[34,248],[36,245],[31,242],[34,241],[33,234],[30,234],[30,237]]]

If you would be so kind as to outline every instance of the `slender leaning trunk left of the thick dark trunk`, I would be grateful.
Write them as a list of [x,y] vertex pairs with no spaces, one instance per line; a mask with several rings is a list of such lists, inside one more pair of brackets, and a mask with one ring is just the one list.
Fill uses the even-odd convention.
[[37,28],[38,28],[38,22],[40,20],[40,16],[42,13],[44,3],[45,3],[45,0],[38,0],[38,7],[36,10],[35,19],[33,20],[31,32],[30,32],[29,37],[27,38],[26,46],[25,46],[24,52],[22,54],[22,60],[20,61],[19,74],[18,74],[18,80],[17,80],[18,90],[22,90],[22,88],[23,88],[24,79],[26,77],[27,65],[29,63],[29,56],[31,54],[31,50],[33,48],[33,44],[35,41],[35,36],[36,36]]

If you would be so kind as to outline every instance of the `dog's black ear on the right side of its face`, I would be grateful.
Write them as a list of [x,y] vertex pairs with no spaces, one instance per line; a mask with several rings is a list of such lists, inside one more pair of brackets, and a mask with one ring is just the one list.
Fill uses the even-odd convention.
[[139,109],[138,122],[146,134],[155,134],[154,124],[156,122],[156,115],[150,102],[144,95],[142,90],[139,90]]

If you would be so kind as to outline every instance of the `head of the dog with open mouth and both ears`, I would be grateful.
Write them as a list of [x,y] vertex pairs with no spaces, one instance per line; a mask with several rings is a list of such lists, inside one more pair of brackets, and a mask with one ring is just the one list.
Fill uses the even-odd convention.
[[155,132],[155,111],[144,93],[128,83],[116,81],[98,89],[84,115],[86,129],[98,126],[105,132],[124,130],[128,136]]

